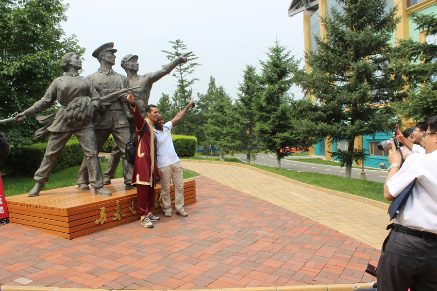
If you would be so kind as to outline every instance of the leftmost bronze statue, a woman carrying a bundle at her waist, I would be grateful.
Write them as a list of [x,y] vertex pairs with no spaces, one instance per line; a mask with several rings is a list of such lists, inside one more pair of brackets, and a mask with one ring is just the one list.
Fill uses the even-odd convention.
[[[56,78],[41,100],[34,103],[26,111],[17,114],[17,122],[25,122],[27,117],[49,108],[56,100],[61,108],[52,115],[45,127],[51,132],[44,159],[35,172],[36,184],[29,192],[29,197],[37,196],[49,180],[50,172],[71,135],[76,135],[84,151],[84,160],[88,164],[88,175],[94,194],[111,196],[111,192],[103,188],[96,135],[94,134],[93,115],[100,106],[100,96],[93,84],[79,76],[82,61],[73,52],[62,57],[61,68],[65,76]],[[47,118],[47,119],[50,119]]]

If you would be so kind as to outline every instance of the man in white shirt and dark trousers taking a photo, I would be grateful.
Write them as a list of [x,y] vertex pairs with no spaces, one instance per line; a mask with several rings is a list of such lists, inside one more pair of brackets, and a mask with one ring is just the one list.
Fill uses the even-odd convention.
[[413,180],[416,184],[384,241],[378,263],[378,291],[437,290],[437,116],[421,133],[425,153],[402,165],[394,145],[384,198],[393,201]]

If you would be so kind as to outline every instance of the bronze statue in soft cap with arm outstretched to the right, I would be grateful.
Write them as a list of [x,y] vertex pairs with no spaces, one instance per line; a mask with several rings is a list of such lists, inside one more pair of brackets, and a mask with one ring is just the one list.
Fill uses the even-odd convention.
[[[138,89],[131,90],[135,97],[136,105],[141,115],[146,118],[146,106],[149,104],[149,97],[152,85],[154,82],[159,81],[162,77],[168,75],[177,65],[184,64],[187,62],[187,56],[189,56],[192,51],[180,55],[178,58],[174,59],[170,64],[162,67],[162,69],[147,73],[144,76],[138,75],[139,65],[138,56],[128,54],[121,59],[121,67],[126,71],[127,77],[129,79],[129,85],[132,87],[141,86]],[[130,121],[131,133],[135,130],[135,123],[133,119]],[[123,148],[124,150],[124,148]],[[117,170],[120,158],[124,157],[124,152],[118,149],[117,145],[114,145],[111,151],[111,155],[108,160],[108,166],[104,173],[103,183],[105,185],[111,184],[111,179],[115,177],[115,172]]]

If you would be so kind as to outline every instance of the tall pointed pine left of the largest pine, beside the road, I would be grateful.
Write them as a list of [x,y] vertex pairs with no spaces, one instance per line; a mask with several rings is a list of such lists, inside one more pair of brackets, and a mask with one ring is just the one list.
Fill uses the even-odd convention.
[[281,153],[281,148],[295,144],[298,139],[290,115],[292,98],[287,93],[298,63],[291,51],[279,45],[279,41],[275,41],[266,54],[267,61],[260,61],[259,88],[253,103],[255,134],[267,150],[276,154],[278,167],[281,167],[281,159],[286,156],[286,153]]

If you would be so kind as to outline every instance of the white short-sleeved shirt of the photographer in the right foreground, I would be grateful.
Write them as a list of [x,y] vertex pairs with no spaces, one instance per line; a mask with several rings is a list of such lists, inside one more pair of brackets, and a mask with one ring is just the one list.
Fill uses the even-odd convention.
[[388,191],[397,197],[414,178],[416,185],[393,222],[437,234],[437,150],[410,155],[387,182]]

